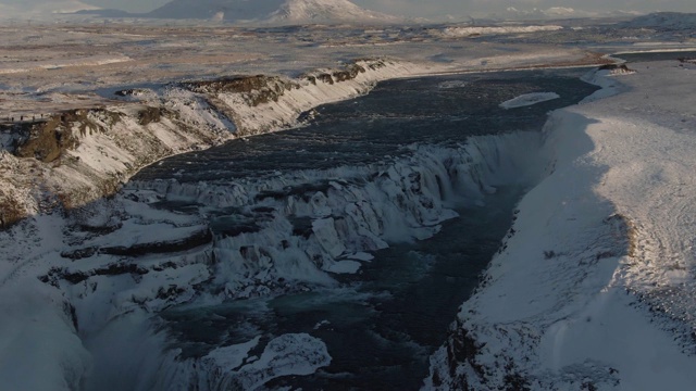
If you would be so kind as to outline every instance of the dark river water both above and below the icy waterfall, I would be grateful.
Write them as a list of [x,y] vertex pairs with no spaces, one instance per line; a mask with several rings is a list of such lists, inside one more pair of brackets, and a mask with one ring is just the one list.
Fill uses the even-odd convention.
[[[411,143],[457,144],[474,135],[540,130],[551,110],[582,100],[596,87],[579,80],[587,70],[456,75],[380,84],[370,94],[316,109],[293,130],[234,141],[170,157],[137,179],[220,181],[232,178],[357,165],[409,153]],[[522,93],[561,98],[504,110]],[[534,153],[534,151],[530,151]],[[271,299],[170,310],[162,314],[173,345],[198,356],[216,344],[262,335],[307,332],[323,340],[332,364],[314,375],[268,386],[303,390],[415,390],[428,356],[440,346],[459,305],[511,226],[523,189],[501,188],[485,206],[459,207],[435,237],[376,252],[339,287]],[[263,341],[262,340],[262,341]]]

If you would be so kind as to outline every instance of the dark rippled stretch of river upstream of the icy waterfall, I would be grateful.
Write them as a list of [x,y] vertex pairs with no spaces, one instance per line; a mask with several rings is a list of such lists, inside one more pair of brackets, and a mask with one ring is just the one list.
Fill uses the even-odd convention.
[[[303,127],[204,152],[169,157],[134,180],[215,181],[303,168],[364,164],[409,153],[411,143],[463,142],[474,135],[538,130],[546,114],[574,104],[596,90],[577,78],[587,70],[524,71],[424,77],[381,83],[355,100],[316,109]],[[559,99],[505,110],[498,105],[531,92]]]

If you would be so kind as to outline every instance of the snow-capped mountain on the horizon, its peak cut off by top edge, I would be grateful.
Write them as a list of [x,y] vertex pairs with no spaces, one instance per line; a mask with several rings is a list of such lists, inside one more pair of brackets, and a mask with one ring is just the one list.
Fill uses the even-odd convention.
[[401,21],[348,0],[173,0],[145,16],[269,23]]

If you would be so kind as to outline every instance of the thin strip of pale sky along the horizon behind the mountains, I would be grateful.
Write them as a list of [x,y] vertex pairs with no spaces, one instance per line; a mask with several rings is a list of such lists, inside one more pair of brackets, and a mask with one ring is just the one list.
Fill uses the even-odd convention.
[[[76,0],[0,0],[2,5],[27,3],[50,4],[59,1]],[[147,12],[161,7],[170,0],[79,0],[83,3],[101,8],[120,9],[130,12]],[[253,2],[253,0],[249,0]],[[679,11],[696,12],[694,0],[352,0],[363,8],[405,16],[472,15],[504,12],[508,8],[519,11],[549,8],[572,8],[588,12],[607,11]]]

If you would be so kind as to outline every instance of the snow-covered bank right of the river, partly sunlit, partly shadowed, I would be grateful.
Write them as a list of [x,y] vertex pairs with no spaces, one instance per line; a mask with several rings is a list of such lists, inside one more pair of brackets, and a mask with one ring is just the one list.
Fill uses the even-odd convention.
[[607,78],[621,70],[595,77],[624,93],[552,114],[554,172],[521,201],[424,389],[696,383],[696,70],[632,67],[622,85]]

